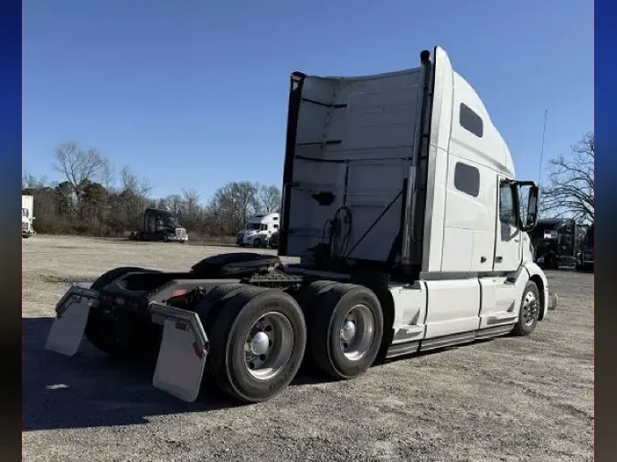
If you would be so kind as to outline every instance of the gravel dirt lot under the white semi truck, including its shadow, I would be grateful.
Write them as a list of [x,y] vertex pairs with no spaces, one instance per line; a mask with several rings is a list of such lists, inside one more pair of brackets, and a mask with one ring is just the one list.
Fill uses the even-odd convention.
[[300,377],[265,404],[183,404],[151,371],[44,350],[68,281],[125,265],[189,268],[236,247],[34,236],[24,241],[24,460],[583,461],[592,459],[593,276],[548,274],[559,307],[529,338]]

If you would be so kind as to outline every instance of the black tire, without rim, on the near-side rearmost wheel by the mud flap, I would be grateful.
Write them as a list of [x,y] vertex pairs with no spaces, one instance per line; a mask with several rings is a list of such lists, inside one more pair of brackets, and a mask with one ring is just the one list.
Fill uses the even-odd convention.
[[[261,381],[246,369],[244,339],[253,323],[272,310],[281,312],[291,322],[293,349],[281,373],[270,380]],[[289,294],[281,290],[246,286],[233,293],[221,307],[209,340],[207,364],[218,388],[240,403],[261,403],[281,393],[300,369],[306,343],[306,324],[300,306]]]

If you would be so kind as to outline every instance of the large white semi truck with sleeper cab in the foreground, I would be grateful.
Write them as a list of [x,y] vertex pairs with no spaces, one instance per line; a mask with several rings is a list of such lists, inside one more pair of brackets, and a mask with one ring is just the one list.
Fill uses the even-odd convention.
[[300,263],[115,268],[59,300],[47,347],[73,355],[85,333],[152,355],[154,386],[182,400],[213,383],[256,403],[304,360],[352,379],[383,358],[529,335],[557,306],[527,236],[537,194],[441,47],[399,72],[293,72],[278,253]]

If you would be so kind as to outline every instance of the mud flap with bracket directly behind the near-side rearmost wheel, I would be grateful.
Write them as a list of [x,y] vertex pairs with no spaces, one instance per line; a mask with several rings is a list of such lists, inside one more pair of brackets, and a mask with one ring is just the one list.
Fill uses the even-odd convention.
[[151,303],[149,309],[153,321],[163,324],[153,384],[182,401],[192,403],[201,389],[209,348],[201,320],[193,311],[160,303]]

